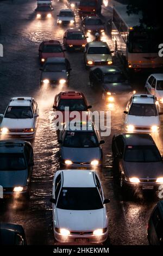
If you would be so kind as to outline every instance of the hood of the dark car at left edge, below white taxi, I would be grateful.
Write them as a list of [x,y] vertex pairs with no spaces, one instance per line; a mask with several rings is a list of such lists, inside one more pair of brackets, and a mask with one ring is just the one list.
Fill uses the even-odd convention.
[[26,186],[27,170],[0,170],[0,185],[3,187]]

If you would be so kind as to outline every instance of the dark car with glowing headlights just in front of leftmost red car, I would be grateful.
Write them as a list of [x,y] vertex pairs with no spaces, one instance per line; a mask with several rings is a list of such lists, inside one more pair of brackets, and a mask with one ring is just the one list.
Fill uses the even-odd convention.
[[66,58],[47,58],[43,68],[40,69],[40,85],[58,87],[68,86],[71,66]]

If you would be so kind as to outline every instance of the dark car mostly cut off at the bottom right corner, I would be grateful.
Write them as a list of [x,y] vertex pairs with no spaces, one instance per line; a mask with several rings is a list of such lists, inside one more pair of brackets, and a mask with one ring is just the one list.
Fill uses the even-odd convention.
[[160,201],[152,211],[147,237],[149,245],[163,245],[163,201]]

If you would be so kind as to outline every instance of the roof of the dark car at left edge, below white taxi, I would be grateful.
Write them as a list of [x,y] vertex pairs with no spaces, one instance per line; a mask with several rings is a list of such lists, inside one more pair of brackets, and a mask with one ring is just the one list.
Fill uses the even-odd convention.
[[18,139],[0,141],[0,153],[23,153],[26,143]]

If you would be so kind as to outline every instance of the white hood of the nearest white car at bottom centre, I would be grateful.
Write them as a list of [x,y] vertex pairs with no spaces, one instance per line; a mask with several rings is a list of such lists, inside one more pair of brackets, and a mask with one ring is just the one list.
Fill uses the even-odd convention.
[[71,231],[91,231],[104,228],[104,208],[89,211],[62,210],[57,208],[59,228]]

